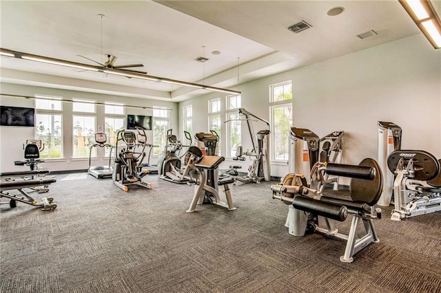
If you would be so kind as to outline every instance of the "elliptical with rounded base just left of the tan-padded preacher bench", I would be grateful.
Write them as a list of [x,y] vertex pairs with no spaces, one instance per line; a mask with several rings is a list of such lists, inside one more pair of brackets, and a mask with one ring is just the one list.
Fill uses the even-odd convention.
[[[192,135],[184,131],[185,138],[192,142]],[[167,130],[167,144],[165,149],[158,156],[158,174],[163,180],[174,183],[186,183],[189,180],[189,166],[185,170],[181,170],[181,157],[179,152],[184,147],[176,135],[172,134],[172,129]]]

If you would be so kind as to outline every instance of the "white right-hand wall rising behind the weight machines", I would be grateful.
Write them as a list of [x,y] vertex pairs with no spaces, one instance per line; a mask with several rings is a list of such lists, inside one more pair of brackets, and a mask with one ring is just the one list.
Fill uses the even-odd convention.
[[[422,35],[240,85],[243,107],[269,120],[269,85],[285,80],[292,80],[295,127],[320,137],[345,131],[343,162],[377,158],[379,120],[402,127],[402,149],[423,149],[441,158],[441,50],[434,50]],[[182,108],[192,105],[194,132],[207,131],[207,100],[218,96],[181,102],[181,130]],[[222,107],[224,121],[225,102]],[[242,131],[244,149],[251,148],[245,123]],[[249,160],[242,170],[248,165]],[[287,173],[287,165],[271,164],[271,175]]]

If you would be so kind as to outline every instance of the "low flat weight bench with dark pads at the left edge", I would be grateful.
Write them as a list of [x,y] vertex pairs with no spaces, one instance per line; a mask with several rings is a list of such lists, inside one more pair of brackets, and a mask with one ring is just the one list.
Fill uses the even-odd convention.
[[[41,202],[37,202],[31,197],[24,188],[35,189],[39,186],[48,186],[54,182],[57,182],[54,178],[37,178],[36,175],[48,174],[48,170],[34,170],[34,171],[17,171],[17,172],[5,172],[0,173],[0,197],[8,197],[10,199],[9,205],[11,208],[17,206],[17,201],[30,204],[31,206],[37,206],[43,208],[43,210],[52,210],[57,208],[57,204],[54,204],[52,197],[43,197]],[[32,178],[32,179],[27,179]],[[37,179],[36,179],[37,178]],[[21,195],[14,195],[8,191],[19,191]],[[3,203],[6,204],[6,203]]]

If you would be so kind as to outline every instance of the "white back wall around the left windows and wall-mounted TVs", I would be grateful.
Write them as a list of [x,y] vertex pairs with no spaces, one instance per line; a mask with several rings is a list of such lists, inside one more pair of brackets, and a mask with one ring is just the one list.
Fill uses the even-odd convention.
[[[96,102],[124,102],[125,105],[143,106],[143,107],[168,107],[170,111],[170,127],[178,129],[178,111],[176,102],[163,102],[159,100],[147,100],[141,98],[125,98],[121,96],[111,96],[104,94],[92,94],[83,91],[69,91],[63,89],[50,89],[46,87],[32,87],[25,85],[14,85],[10,83],[0,83],[2,94],[15,94],[23,96],[34,96],[35,94],[45,94],[50,96],[61,96],[63,99],[72,98],[90,99]],[[1,105],[14,107],[34,107],[34,100],[21,98],[1,98]],[[125,114],[139,114],[152,116],[152,109],[126,108]],[[81,170],[88,168],[88,159],[72,160],[72,104],[63,103],[63,159],[47,160],[39,164],[43,169],[51,171]],[[104,125],[104,106],[96,106],[96,126]],[[153,131],[146,131],[147,142],[152,143]],[[28,166],[15,166],[14,161],[23,159],[23,143],[25,140],[34,138],[33,127],[0,127],[0,170],[20,171],[28,170]],[[103,150],[98,150],[98,158],[92,162],[93,165],[107,165],[108,159],[103,159]],[[154,159],[152,160],[154,163]]]

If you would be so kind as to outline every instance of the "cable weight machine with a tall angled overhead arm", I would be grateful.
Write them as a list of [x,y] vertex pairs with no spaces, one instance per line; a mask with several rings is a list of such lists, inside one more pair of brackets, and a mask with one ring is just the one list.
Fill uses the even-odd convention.
[[[245,177],[236,176],[234,177],[237,181],[243,183],[257,183],[259,184],[262,180],[269,181],[271,179],[271,166],[269,165],[268,160],[268,141],[267,137],[271,131],[269,131],[269,122],[263,118],[260,118],[244,108],[239,109],[240,116],[245,116],[245,120],[247,121],[249,135],[251,135],[251,141],[253,145],[252,151],[247,151],[245,153],[236,153],[236,157],[241,157],[242,155],[247,155],[250,158],[254,157],[252,164],[248,167],[248,173]],[[260,130],[257,132],[256,137],[254,137],[254,129],[251,118],[256,118],[262,122],[267,124],[267,129]],[[257,138],[257,142],[256,142]],[[242,148],[240,148],[241,150]]]

